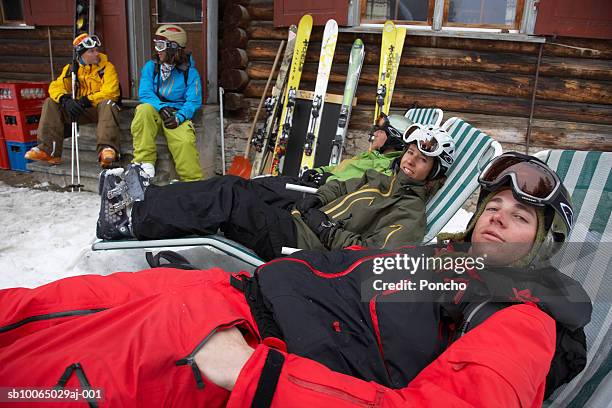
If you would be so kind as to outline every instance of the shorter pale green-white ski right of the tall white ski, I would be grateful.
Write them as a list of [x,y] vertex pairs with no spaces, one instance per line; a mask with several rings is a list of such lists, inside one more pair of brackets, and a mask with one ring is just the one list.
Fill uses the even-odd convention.
[[338,129],[336,130],[336,136],[332,142],[332,151],[329,159],[330,166],[338,165],[342,157],[344,140],[351,118],[351,110],[353,109],[353,98],[357,91],[357,83],[359,82],[364,56],[363,41],[358,38],[353,42],[353,46],[351,47],[346,83],[344,84],[344,95],[342,97],[342,106],[340,107],[340,117],[338,118]]

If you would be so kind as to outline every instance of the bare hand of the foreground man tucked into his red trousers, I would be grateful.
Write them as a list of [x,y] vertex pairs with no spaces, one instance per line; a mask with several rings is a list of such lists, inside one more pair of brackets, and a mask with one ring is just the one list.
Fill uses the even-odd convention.
[[240,331],[232,327],[213,334],[196,353],[195,361],[207,379],[231,391],[251,354],[253,348]]

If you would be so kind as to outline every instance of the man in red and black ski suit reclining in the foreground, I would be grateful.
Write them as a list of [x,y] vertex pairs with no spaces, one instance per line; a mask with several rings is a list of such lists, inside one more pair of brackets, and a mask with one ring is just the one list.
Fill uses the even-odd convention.
[[[520,154],[480,181],[466,232],[439,246],[303,251],[255,277],[156,269],[0,291],[0,385],[103,389],[100,406],[540,406],[586,359],[588,296],[547,263],[571,201]],[[423,259],[445,266],[404,266]]]

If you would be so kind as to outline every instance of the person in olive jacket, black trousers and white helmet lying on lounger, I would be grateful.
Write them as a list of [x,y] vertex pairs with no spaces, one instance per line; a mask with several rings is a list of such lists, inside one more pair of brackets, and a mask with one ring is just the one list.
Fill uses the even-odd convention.
[[144,172],[101,174],[97,236],[140,240],[215,234],[253,249],[265,260],[283,246],[337,249],[350,245],[389,248],[420,242],[425,205],[453,163],[454,142],[443,130],[418,127],[407,139],[392,175],[368,170],[360,179],[334,180],[293,211],[262,200],[252,183],[224,177],[143,186]]

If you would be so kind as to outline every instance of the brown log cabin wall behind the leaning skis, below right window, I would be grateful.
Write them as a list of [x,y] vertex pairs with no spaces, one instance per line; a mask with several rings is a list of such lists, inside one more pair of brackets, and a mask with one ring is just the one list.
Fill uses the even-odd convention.
[[[233,0],[220,11],[220,84],[228,111],[227,155],[245,147],[250,121],[286,28],[275,28],[273,0]],[[300,89],[314,90],[323,27],[315,27]],[[352,42],[365,43],[357,106],[345,157],[367,148],[380,55],[380,33],[341,32],[328,93],[342,94]],[[459,37],[406,36],[391,113],[417,104],[460,116],[502,142],[525,151],[566,148],[612,151],[612,42],[556,38],[539,43]],[[271,88],[271,87],[270,87]],[[269,91],[270,92],[270,91]],[[263,112],[260,113],[260,121]]]

